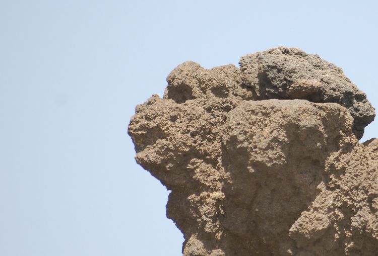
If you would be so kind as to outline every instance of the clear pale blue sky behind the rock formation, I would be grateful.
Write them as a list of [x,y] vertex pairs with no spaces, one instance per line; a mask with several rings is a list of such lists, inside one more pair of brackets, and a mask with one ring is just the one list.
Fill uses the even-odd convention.
[[[377,1],[0,0],[0,255],[182,255],[139,166],[135,107],[166,76],[296,47],[378,108]],[[378,120],[378,118],[377,118]],[[378,121],[360,140],[378,136]]]

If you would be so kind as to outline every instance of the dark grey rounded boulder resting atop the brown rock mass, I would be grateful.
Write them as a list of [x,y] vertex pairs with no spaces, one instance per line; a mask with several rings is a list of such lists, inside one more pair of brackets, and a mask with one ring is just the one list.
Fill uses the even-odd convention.
[[279,47],[241,57],[240,69],[246,86],[259,100],[303,99],[317,103],[335,102],[354,118],[353,131],[362,138],[375,117],[374,108],[343,70],[300,49]]

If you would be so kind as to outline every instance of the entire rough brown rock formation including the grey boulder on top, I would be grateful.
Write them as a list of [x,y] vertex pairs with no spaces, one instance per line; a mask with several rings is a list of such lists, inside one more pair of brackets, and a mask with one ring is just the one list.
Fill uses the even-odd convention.
[[279,47],[167,81],[129,134],[184,256],[378,255],[375,113],[341,68]]

